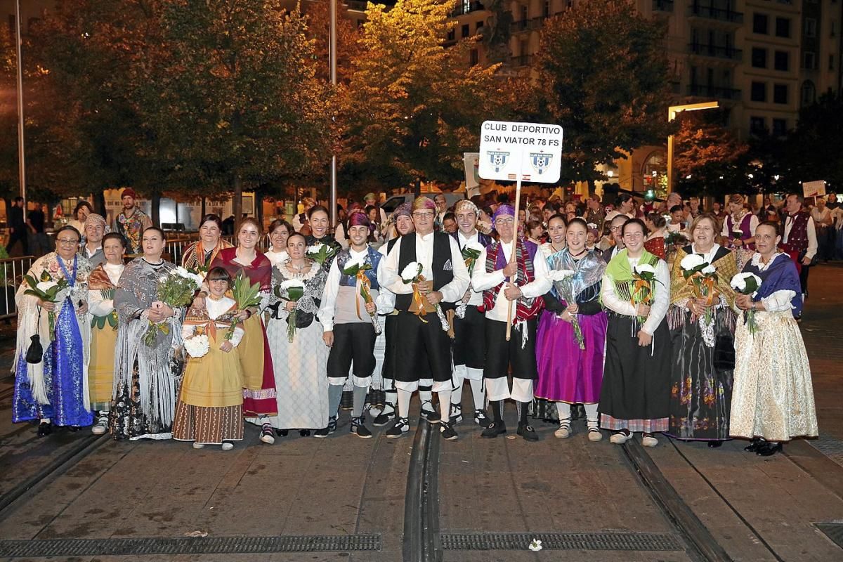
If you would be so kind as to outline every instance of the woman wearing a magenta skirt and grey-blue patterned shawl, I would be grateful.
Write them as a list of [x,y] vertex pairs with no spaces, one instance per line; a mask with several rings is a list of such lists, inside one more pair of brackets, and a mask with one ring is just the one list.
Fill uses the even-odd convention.
[[[550,226],[559,219],[551,218]],[[551,272],[568,270],[572,275],[554,281],[550,301],[553,309],[545,310],[539,322],[535,345],[539,383],[535,396],[556,402],[559,414],[556,437],[564,439],[571,435],[571,404],[584,404],[588,439],[600,441],[603,436],[598,427],[597,403],[603,383],[608,319],[599,297],[606,262],[597,252],[585,248],[587,233],[586,222],[573,219],[567,227],[567,248],[548,260]],[[566,298],[572,298],[572,302]],[[577,340],[575,322],[582,344]]]

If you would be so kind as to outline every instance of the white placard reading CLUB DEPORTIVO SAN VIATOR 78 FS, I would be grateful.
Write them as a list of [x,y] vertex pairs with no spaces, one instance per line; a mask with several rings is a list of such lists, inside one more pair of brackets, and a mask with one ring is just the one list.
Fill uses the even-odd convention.
[[561,160],[561,126],[483,121],[481,178],[555,184],[559,181]]

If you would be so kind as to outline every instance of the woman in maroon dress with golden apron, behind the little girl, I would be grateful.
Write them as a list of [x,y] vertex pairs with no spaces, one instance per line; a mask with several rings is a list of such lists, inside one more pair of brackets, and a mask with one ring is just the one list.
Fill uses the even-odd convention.
[[[244,218],[237,231],[237,247],[221,250],[211,267],[227,270],[232,280],[236,280],[242,271],[251,284],[260,285],[260,305],[238,312],[238,318],[243,321],[244,335],[237,346],[237,354],[243,366],[243,413],[247,421],[260,425],[260,441],[271,445],[275,436],[269,417],[278,413],[278,407],[272,356],[260,313],[271,297],[272,264],[257,249],[261,236],[260,224],[252,217]],[[204,297],[207,293],[201,292],[200,295]]]

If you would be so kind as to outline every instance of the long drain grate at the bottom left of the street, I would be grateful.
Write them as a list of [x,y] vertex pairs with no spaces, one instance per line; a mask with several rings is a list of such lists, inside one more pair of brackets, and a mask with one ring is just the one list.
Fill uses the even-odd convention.
[[58,538],[0,541],[0,558],[357,552],[380,550],[380,548],[380,534],[304,537]]

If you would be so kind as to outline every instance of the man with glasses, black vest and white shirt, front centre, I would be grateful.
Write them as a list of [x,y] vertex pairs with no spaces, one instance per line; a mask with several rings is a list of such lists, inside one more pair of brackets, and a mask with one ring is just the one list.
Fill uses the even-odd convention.
[[[399,311],[396,323],[399,337],[395,342],[399,417],[386,432],[390,438],[410,430],[410,397],[416,388],[421,399],[421,417],[431,423],[441,421],[440,431],[445,439],[457,438],[449,423],[453,388],[451,339],[440,314],[428,312],[428,308],[454,308],[454,302],[468,289],[470,279],[454,238],[433,232],[435,214],[433,201],[418,197],[413,202],[416,233],[401,237],[384,264],[381,285],[395,293],[395,309]],[[413,262],[421,265],[423,281],[405,282],[401,274]],[[432,379],[431,390],[438,393],[441,417],[433,408],[432,395],[422,392],[420,380],[426,378]]]

